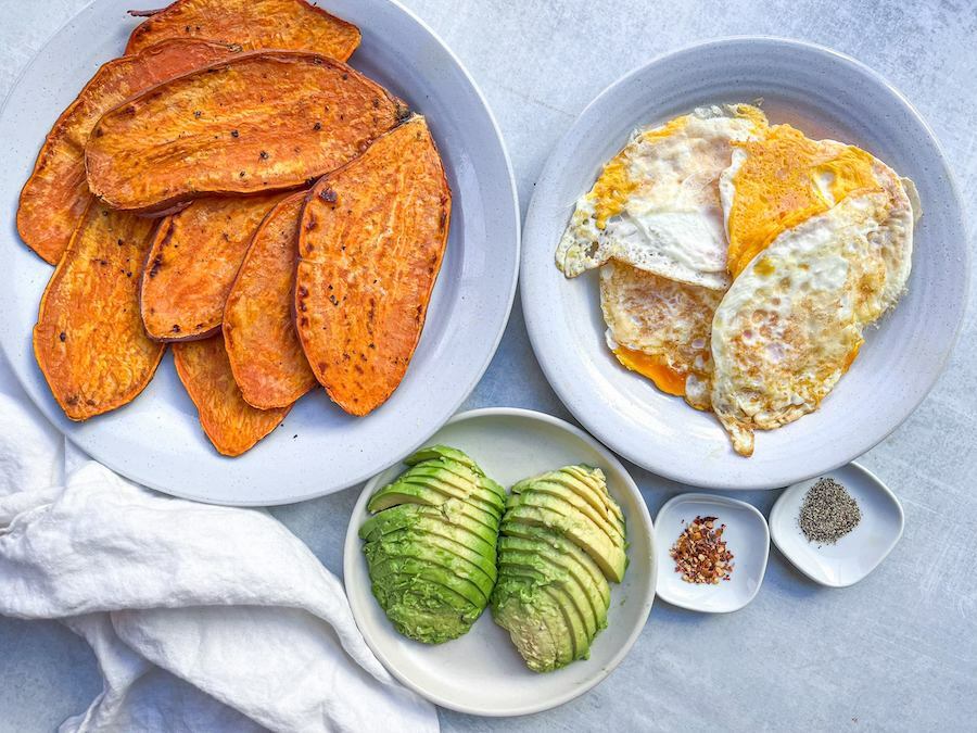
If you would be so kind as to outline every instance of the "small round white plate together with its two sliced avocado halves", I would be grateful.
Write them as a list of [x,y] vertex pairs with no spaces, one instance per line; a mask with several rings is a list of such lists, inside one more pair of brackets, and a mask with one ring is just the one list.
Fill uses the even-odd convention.
[[634,480],[579,428],[525,409],[462,413],[424,446],[367,483],[350,520],[346,594],[367,644],[461,712],[540,712],[591,690],[655,597]]

